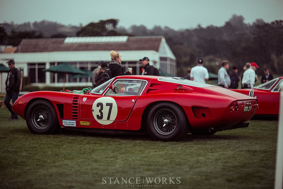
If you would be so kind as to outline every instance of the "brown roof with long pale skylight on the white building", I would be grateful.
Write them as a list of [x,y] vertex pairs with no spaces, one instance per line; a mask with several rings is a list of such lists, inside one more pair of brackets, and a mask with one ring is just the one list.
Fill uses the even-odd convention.
[[92,50],[109,50],[109,51],[110,50],[155,50],[156,52],[158,52],[160,44],[162,42],[162,38],[163,38],[162,36],[146,36],[146,37],[128,37],[128,36],[105,37],[104,36],[104,37],[23,39],[15,52],[92,51]]

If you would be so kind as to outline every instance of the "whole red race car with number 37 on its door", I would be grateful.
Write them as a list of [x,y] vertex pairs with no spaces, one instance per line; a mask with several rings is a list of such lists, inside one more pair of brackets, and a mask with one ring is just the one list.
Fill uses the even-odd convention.
[[118,76],[82,91],[22,95],[12,109],[32,133],[66,129],[107,134],[149,133],[178,141],[247,127],[257,99],[179,77]]

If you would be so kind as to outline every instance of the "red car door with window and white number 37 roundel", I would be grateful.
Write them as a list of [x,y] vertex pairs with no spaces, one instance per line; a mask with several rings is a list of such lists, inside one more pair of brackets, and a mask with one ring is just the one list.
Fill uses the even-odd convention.
[[115,122],[125,122],[143,91],[146,81],[116,80],[115,90],[104,95],[83,95],[80,100],[80,127],[119,129]]

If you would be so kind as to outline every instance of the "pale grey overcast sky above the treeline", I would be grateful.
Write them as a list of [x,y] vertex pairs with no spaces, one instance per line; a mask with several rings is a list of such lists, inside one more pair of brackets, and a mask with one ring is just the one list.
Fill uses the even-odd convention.
[[245,23],[283,20],[283,0],[0,0],[0,23],[48,20],[83,26],[110,18],[119,26],[168,26],[175,30],[223,26],[233,14]]

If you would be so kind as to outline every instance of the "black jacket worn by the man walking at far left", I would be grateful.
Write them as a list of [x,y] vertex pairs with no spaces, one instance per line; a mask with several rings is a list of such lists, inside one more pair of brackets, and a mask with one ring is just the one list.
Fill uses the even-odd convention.
[[[7,86],[8,83],[8,76],[9,77],[9,86]],[[8,94],[11,94],[12,92],[19,93],[20,91],[20,83],[21,83],[21,74],[20,71],[17,68],[13,68],[12,70],[8,71],[7,79],[6,79],[6,92]]]

